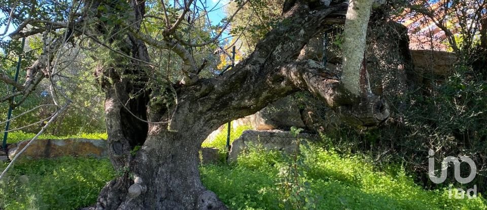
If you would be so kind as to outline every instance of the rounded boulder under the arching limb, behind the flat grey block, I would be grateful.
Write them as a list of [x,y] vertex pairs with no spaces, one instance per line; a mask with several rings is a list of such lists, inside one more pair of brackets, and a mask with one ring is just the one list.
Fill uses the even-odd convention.
[[299,108],[291,97],[280,99],[258,111],[252,116],[251,122],[252,127],[259,131],[305,127]]

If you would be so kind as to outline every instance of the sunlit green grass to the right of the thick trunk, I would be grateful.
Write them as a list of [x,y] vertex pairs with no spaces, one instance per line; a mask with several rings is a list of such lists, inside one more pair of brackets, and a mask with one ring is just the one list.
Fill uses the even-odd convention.
[[[302,148],[302,154],[299,179],[306,196],[300,196],[314,200],[312,209],[487,209],[480,194],[475,199],[449,199],[447,189],[425,190],[401,167],[381,172],[361,156],[340,156],[313,146]],[[286,157],[257,149],[238,161],[200,169],[204,185],[230,209],[296,209],[286,204],[290,199],[277,187],[288,165]]]

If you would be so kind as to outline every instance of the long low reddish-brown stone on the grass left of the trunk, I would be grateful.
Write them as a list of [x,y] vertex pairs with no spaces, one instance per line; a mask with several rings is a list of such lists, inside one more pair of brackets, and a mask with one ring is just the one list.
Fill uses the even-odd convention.
[[[9,158],[27,145],[22,141],[9,145]],[[36,140],[19,156],[19,158],[49,158],[60,156],[106,157],[107,141],[91,139]]]

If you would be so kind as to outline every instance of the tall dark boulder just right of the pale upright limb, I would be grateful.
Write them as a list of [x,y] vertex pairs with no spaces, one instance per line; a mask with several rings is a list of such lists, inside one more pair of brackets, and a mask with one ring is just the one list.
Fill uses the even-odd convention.
[[376,95],[396,97],[417,85],[407,27],[388,18],[371,18],[365,58],[370,88]]

